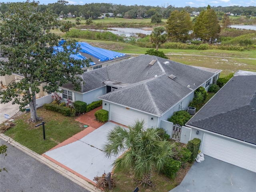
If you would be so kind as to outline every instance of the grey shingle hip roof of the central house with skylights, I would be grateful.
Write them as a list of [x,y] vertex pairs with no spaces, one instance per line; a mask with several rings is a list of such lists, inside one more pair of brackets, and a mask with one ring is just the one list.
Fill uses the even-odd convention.
[[[149,65],[152,60],[156,62]],[[105,86],[106,81],[120,82],[124,84],[122,88],[99,98],[161,116],[214,74],[157,56],[141,55],[85,72],[80,92]],[[176,77],[171,79],[170,75]],[[74,90],[72,84],[62,87]]]

